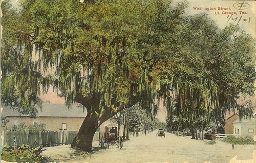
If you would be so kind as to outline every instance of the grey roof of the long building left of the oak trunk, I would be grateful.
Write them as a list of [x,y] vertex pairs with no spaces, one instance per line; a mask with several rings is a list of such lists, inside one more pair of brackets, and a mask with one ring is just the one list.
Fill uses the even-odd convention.
[[[17,110],[12,109],[10,106],[1,106],[3,111],[1,117],[27,117],[29,115],[20,114]],[[87,110],[83,112],[82,108],[72,105],[68,109],[65,104],[51,104],[42,103],[42,110],[38,110],[38,117],[77,117],[85,118]]]

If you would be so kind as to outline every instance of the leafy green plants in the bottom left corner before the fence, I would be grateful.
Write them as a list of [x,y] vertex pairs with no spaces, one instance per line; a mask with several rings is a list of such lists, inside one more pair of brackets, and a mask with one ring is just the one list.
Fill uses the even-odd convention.
[[1,152],[1,159],[10,162],[41,162],[43,159],[40,155],[42,151],[44,151],[42,147],[31,150],[29,144],[17,148],[5,146]]

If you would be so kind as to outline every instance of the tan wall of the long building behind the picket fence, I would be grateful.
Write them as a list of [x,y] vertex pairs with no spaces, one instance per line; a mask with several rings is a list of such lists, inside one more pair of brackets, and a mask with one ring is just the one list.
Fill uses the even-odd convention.
[[61,124],[67,124],[67,131],[78,131],[84,118],[75,117],[40,117],[37,119],[31,119],[29,117],[8,117],[10,120],[7,123],[7,127],[1,127],[1,129],[11,129],[14,125],[14,121],[18,121],[18,124],[25,123],[27,127],[33,125],[33,121],[39,121],[39,123],[46,124],[46,130],[58,131],[61,129]]

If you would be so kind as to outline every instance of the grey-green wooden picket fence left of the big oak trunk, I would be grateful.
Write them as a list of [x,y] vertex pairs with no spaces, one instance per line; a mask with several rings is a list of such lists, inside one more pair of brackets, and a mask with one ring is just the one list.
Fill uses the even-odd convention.
[[71,144],[73,138],[77,135],[77,131],[11,131],[2,130],[2,146],[14,145],[14,137],[16,145],[30,144],[31,147],[36,146],[56,146]]

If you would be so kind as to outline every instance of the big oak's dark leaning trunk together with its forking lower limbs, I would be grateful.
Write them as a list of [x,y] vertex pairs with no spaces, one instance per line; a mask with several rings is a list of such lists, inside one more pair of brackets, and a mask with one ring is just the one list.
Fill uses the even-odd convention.
[[[74,99],[75,102],[82,104],[87,108],[87,116],[84,119],[76,137],[73,139],[71,148],[81,149],[81,150],[91,150],[93,136],[97,128],[106,120],[113,117],[116,113],[113,112],[113,108],[105,107],[100,118],[97,117],[96,112],[100,112],[100,97],[99,92],[93,92],[90,96],[84,97],[79,92],[76,93]],[[124,105],[123,103],[115,103],[115,106],[119,108],[119,111],[123,110],[124,107],[131,107],[135,105],[139,99],[131,96],[129,98],[129,105]],[[125,130],[124,130],[125,131]],[[124,132],[125,134],[125,132]]]

